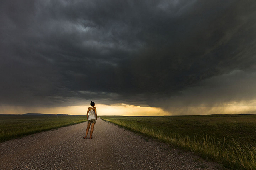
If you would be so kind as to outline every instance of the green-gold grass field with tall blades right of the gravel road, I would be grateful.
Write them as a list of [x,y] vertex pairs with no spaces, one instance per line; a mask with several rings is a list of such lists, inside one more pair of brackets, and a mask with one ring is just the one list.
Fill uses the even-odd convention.
[[101,116],[234,170],[256,170],[256,115]]

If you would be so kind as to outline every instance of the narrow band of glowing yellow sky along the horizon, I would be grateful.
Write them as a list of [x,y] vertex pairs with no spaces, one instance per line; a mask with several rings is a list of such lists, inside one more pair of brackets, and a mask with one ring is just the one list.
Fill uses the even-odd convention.
[[[164,111],[160,107],[141,107],[128,104],[104,105],[97,104],[97,114],[103,115],[122,115],[122,116],[165,116],[165,115],[210,115],[210,114],[255,114],[256,106],[244,102],[233,102],[215,107],[174,107],[170,112]],[[13,107],[1,106],[0,114],[69,114],[86,115],[90,106],[66,106],[66,107]],[[188,114],[189,113],[189,114]]]

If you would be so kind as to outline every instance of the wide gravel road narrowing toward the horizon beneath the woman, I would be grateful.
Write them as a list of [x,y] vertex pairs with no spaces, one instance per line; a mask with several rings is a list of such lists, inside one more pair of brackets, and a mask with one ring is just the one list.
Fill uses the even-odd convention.
[[[172,149],[101,119],[0,143],[0,170],[217,170],[191,152]],[[90,132],[89,132],[90,133]]]

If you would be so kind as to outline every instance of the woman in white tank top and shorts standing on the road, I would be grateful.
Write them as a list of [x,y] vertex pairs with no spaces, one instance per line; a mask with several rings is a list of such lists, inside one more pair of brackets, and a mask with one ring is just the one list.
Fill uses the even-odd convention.
[[[87,139],[87,134],[89,132],[89,129],[90,129],[90,126],[92,124],[92,127],[91,127],[91,134],[90,134],[90,138],[89,139],[92,139],[92,133],[93,133],[93,128],[94,128],[94,125],[96,123],[96,120],[97,120],[97,110],[96,110],[96,107],[95,106],[95,103],[91,101],[91,106],[92,107],[88,107],[88,110],[87,110],[87,129],[86,129],[86,134],[85,134],[85,137],[84,139]],[[88,116],[88,113],[90,112],[90,115]]]

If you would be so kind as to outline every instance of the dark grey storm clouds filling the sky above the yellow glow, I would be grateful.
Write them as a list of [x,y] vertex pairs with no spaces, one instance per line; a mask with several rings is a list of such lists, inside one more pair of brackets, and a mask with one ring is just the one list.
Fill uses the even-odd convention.
[[255,9],[254,0],[1,1],[0,103],[172,111],[255,100]]

